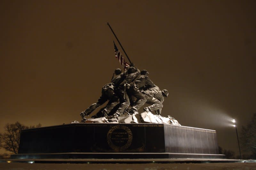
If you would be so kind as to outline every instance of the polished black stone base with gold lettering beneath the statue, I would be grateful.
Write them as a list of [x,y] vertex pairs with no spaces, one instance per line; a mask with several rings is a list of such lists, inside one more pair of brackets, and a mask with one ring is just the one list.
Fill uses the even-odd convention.
[[214,130],[142,123],[26,129],[18,153],[11,158],[223,158]]

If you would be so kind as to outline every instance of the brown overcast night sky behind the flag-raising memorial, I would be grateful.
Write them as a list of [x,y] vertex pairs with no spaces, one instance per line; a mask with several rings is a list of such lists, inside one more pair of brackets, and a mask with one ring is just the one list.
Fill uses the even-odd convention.
[[230,120],[239,133],[256,112],[255,9],[248,0],[0,1],[0,132],[7,122],[81,120],[121,68],[109,22],[132,62],[168,89],[162,114],[216,130],[238,153]]

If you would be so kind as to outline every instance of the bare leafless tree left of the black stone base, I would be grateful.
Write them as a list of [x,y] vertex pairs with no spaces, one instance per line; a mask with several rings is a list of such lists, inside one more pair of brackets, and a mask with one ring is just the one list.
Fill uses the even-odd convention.
[[20,133],[23,129],[28,128],[39,128],[41,124],[39,123],[36,126],[25,126],[22,125],[20,122],[16,122],[14,124],[7,123],[4,126],[4,133],[0,133],[0,147],[4,148],[6,151],[11,151],[15,154],[18,153],[19,144],[20,144]]

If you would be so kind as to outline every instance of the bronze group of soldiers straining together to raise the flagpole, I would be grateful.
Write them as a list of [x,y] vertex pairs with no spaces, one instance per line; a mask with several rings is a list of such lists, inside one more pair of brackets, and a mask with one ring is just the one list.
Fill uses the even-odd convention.
[[[164,97],[168,96],[166,89],[160,90],[148,77],[148,71],[140,71],[134,64],[131,64],[122,73],[117,68],[110,83],[102,87],[101,96],[98,101],[92,104],[84,112],[81,112],[82,122],[86,120],[96,108],[108,101],[108,104],[91,118],[108,117],[115,118],[124,112],[138,114],[138,110],[145,104],[145,112],[155,111],[161,115]],[[130,107],[129,107],[130,106]]]

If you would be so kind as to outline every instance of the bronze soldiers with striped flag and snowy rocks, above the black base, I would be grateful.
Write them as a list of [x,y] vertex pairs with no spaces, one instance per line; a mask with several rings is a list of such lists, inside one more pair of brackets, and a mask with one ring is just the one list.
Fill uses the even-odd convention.
[[[98,101],[81,112],[82,122],[86,123],[165,123],[180,125],[171,116],[161,116],[164,97],[168,96],[166,89],[160,90],[148,77],[147,70],[140,70],[133,63],[126,63],[121,52],[114,43],[115,57],[124,67],[116,69],[110,83],[102,87]],[[127,56],[128,58],[128,56]],[[128,58],[129,59],[129,58]],[[130,61],[130,59],[129,59]],[[108,104],[100,109],[90,119],[86,119],[97,107],[108,101]],[[145,112],[139,114],[138,110],[145,104]],[[155,111],[156,115],[152,112]],[[73,123],[77,123],[73,122]]]

